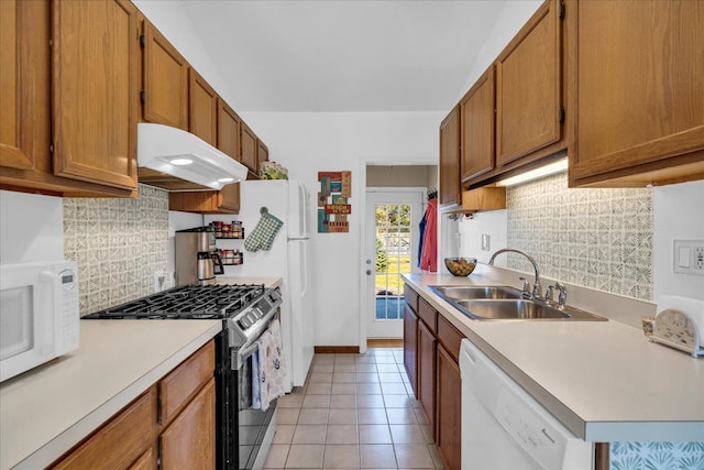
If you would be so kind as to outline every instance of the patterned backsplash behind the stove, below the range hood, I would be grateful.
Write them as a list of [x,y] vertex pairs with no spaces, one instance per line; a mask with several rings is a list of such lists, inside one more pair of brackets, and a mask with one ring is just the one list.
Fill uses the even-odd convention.
[[64,256],[78,262],[80,315],[154,292],[168,260],[168,193],[136,199],[64,198]]

